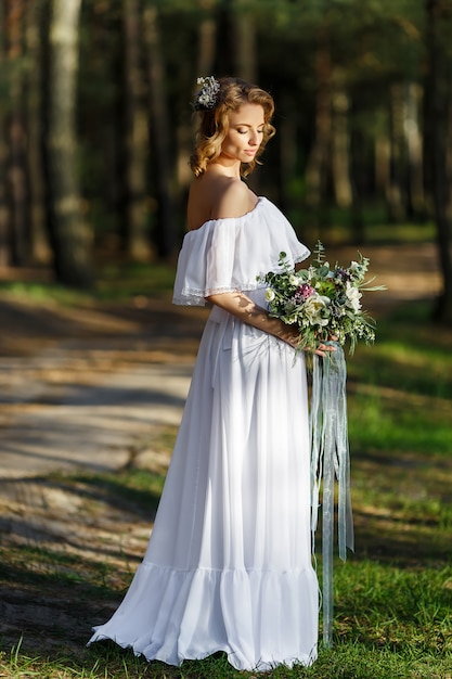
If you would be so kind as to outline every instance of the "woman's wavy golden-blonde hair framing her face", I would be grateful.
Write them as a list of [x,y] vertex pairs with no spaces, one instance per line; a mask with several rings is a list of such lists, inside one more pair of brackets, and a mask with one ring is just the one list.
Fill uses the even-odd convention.
[[219,78],[218,82],[220,89],[215,107],[197,112],[201,120],[189,164],[194,176],[199,177],[207,165],[216,161],[221,153],[221,144],[229,130],[229,114],[237,111],[244,103],[258,104],[263,108],[263,139],[253,161],[241,166],[241,175],[246,177],[253,172],[256,165],[260,165],[258,157],[276,131],[270,123],[274,112],[273,98],[256,85],[240,78]]

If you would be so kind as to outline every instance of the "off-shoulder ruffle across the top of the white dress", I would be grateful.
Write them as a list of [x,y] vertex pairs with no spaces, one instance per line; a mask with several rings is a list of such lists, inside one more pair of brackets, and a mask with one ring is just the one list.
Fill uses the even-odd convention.
[[259,276],[277,270],[280,252],[290,264],[309,255],[284,215],[264,197],[242,217],[210,219],[185,234],[172,302],[204,306],[209,295],[257,290]]

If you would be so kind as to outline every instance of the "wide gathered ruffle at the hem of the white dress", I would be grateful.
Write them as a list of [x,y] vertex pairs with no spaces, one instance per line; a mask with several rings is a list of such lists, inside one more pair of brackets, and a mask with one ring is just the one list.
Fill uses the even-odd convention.
[[[176,571],[143,562],[121,608],[96,628],[90,643],[112,639],[169,665],[223,651],[236,669],[267,671],[315,658],[315,648],[306,645],[306,630],[317,627],[312,611],[317,579],[311,569]],[[118,629],[127,629],[127,638],[117,636]]]

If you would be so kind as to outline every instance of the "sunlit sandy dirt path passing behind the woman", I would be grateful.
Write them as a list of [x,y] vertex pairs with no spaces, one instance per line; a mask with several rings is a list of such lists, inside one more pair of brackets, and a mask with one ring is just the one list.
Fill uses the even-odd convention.
[[[432,245],[365,254],[388,287],[367,296],[371,311],[437,294]],[[348,261],[356,249],[335,256]],[[0,297],[0,477],[70,460],[91,466],[91,445],[100,467],[120,466],[133,432],[180,417],[207,311],[169,298],[138,302],[74,308]]]

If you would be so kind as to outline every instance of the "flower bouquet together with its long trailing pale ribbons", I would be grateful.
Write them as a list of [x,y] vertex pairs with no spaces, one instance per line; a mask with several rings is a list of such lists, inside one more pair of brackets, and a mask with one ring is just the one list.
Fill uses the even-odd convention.
[[[369,259],[359,256],[347,269],[331,269],[324,260],[324,247],[318,242],[314,260],[307,269],[295,271],[285,253],[280,254],[279,271],[269,271],[260,280],[267,283],[266,298],[271,316],[299,330],[298,349],[313,349],[320,342],[335,338],[336,351],[328,360],[312,357],[312,389],[309,412],[311,436],[311,530],[312,549],[322,507],[323,554],[323,640],[333,639],[333,541],[335,515],[339,558],[353,550],[353,518],[350,498],[350,457],[347,433],[346,361],[340,345],[350,343],[352,354],[359,340],[375,340],[375,321],[362,310],[364,291],[385,290],[365,281]],[[337,337],[337,342],[336,342]],[[337,512],[335,481],[337,479]],[[320,495],[322,488],[322,501]]]

